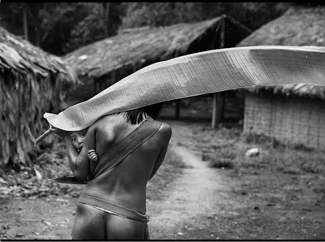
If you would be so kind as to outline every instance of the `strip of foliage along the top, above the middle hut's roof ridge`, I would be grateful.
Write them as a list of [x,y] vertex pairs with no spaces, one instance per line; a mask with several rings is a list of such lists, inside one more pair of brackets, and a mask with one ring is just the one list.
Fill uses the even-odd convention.
[[290,3],[131,3],[123,27],[162,26],[228,14],[251,29],[278,17]]

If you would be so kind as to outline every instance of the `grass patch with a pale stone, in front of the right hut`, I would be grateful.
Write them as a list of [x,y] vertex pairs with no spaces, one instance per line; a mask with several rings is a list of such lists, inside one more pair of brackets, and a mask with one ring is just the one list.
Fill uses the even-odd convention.
[[[242,134],[238,128],[212,129],[209,124],[195,124],[189,140],[201,149],[201,159],[215,168],[234,168],[235,173],[256,174],[263,170],[290,175],[325,175],[323,151],[304,145],[286,145],[263,134]],[[202,142],[203,141],[203,142]],[[257,147],[260,154],[245,156]],[[214,151],[213,151],[214,150]]]

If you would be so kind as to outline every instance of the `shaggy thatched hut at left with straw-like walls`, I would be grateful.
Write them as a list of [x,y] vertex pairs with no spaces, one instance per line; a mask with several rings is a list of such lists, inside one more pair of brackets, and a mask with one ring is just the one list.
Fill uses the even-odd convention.
[[60,109],[77,75],[59,57],[0,27],[0,164],[28,161],[46,111]]

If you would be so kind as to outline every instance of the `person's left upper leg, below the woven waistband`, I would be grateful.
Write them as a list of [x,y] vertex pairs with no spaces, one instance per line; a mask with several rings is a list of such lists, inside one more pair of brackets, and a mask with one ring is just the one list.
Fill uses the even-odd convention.
[[106,213],[78,203],[73,239],[106,239]]

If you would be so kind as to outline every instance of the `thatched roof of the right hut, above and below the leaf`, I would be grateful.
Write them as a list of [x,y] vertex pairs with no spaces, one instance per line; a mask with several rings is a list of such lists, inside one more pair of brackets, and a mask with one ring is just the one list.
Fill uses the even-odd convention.
[[[282,16],[263,25],[237,47],[242,46],[325,46],[325,7],[292,7]],[[325,87],[312,84],[252,86],[251,93],[273,93],[325,98]]]

